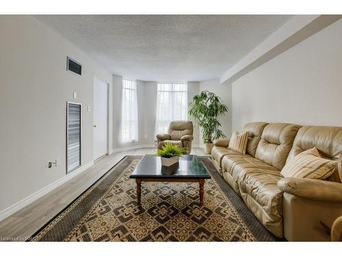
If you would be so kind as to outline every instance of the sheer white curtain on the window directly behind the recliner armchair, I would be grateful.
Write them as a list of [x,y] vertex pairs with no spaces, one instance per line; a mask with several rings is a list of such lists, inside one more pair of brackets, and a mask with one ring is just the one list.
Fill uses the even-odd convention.
[[187,120],[187,84],[157,84],[155,134],[167,133],[172,120]]

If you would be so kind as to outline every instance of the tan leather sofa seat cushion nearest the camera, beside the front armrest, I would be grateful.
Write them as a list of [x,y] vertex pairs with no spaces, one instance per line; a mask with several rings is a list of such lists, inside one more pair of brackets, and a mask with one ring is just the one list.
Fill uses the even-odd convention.
[[278,180],[282,179],[279,171],[254,169],[247,171],[237,181],[239,189],[248,193],[263,210],[274,216],[275,219],[282,216],[282,191],[278,188]]

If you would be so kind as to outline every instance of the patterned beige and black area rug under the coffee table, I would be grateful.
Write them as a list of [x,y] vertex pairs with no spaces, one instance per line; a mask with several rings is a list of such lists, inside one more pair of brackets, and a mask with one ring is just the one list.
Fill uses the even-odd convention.
[[141,157],[126,156],[34,236],[38,241],[274,241],[233,189],[211,173],[205,201],[197,183],[142,182],[137,205],[135,180]]

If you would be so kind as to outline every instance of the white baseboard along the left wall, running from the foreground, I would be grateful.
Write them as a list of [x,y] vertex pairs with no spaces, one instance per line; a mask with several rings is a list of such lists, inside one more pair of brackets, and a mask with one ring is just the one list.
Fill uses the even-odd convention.
[[21,201],[18,201],[17,203],[14,203],[14,205],[11,205],[10,207],[6,208],[5,210],[2,210],[0,212],[0,221],[7,218],[8,216],[14,214],[15,212],[18,212],[18,210],[23,209],[26,205],[29,205],[29,203],[32,203],[39,199],[40,197],[47,195],[47,193],[51,192],[58,186],[61,186],[68,180],[72,179],[73,177],[79,175],[83,171],[86,171],[89,167],[92,167],[94,165],[94,161],[88,162],[86,165],[82,165],[79,167],[79,169],[73,171],[72,173],[65,175],[60,178],[60,180],[56,180],[55,182],[51,183],[50,185],[38,190],[36,193],[33,193],[32,195],[29,195],[28,197],[22,199]]

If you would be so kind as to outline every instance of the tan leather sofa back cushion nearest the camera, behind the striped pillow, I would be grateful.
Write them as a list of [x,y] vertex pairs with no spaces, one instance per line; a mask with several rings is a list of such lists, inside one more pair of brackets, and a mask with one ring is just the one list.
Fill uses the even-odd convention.
[[[342,127],[303,126],[293,141],[287,162],[313,147],[317,148],[321,157],[337,160],[342,153]],[[328,180],[341,182],[340,175],[342,174],[337,169]]]

